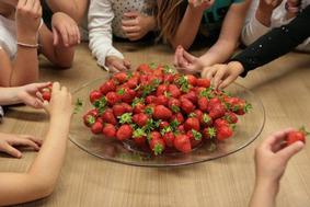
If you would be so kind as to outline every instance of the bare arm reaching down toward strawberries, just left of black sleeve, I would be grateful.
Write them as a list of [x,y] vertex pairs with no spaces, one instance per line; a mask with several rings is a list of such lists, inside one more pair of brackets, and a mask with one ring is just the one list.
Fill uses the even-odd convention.
[[240,34],[250,1],[234,3],[230,7],[217,43],[199,59],[204,66],[227,61],[240,44]]

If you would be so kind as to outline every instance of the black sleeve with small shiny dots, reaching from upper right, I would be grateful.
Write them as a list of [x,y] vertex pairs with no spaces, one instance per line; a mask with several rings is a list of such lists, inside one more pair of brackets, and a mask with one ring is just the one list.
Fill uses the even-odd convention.
[[310,5],[287,25],[277,27],[251,44],[231,61],[239,61],[244,68],[241,77],[250,70],[289,53],[310,36]]

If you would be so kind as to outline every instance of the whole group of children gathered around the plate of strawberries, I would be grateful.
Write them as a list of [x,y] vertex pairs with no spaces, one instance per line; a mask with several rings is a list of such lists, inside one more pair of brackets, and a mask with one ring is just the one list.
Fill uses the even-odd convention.
[[[0,205],[49,195],[64,160],[71,95],[54,83],[50,103],[39,99],[37,92],[50,84],[33,83],[38,79],[39,54],[55,68],[70,68],[74,47],[89,39],[101,67],[126,71],[130,61],[113,46],[114,37],[133,44],[153,39],[175,49],[174,65],[180,71],[200,73],[216,88],[225,88],[238,76],[244,77],[294,48],[310,51],[309,4],[310,0],[0,0],[0,105],[25,103],[50,115],[43,145],[32,136],[0,134],[0,151],[13,157],[22,157],[15,145],[41,148],[27,173],[0,173]],[[214,45],[195,57],[186,51],[195,39]],[[248,47],[232,58],[242,43]],[[287,161],[303,147],[296,142],[282,149],[287,131],[272,135],[257,148],[250,206],[262,206],[262,199],[266,202],[263,206],[274,205]],[[56,146],[57,156],[51,153]],[[262,164],[266,162],[269,164]],[[24,187],[15,191],[16,186]]]

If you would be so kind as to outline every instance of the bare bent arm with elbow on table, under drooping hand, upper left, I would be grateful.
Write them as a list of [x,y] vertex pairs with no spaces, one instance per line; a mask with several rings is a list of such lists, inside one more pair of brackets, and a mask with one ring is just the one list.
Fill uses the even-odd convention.
[[74,47],[65,47],[62,44],[54,46],[51,32],[43,25],[41,31],[41,44],[43,54],[54,65],[61,68],[70,68],[74,57]]

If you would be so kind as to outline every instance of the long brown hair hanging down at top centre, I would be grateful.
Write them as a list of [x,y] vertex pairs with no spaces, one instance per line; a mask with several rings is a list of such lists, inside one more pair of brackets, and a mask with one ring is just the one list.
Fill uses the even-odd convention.
[[176,33],[184,14],[183,0],[161,0],[158,3],[157,22],[160,30],[159,39],[169,42]]

